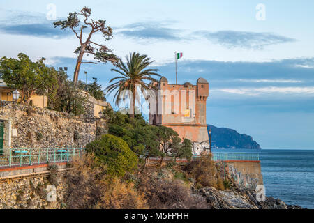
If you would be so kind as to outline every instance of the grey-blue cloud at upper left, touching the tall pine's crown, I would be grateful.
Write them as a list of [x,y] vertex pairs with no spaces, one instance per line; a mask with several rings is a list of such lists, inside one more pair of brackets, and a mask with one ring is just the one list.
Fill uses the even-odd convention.
[[[57,18],[58,20],[61,18]],[[8,11],[6,20],[0,21],[0,31],[14,35],[45,38],[65,38],[73,35],[69,30],[54,28],[54,21],[47,20],[43,13]]]

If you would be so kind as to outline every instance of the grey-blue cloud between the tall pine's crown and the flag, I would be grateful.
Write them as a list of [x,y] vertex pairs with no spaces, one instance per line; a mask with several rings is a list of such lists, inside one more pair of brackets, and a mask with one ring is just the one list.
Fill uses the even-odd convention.
[[166,27],[169,22],[136,22],[121,27],[117,31],[130,38],[155,39],[155,40],[182,40],[181,30]]

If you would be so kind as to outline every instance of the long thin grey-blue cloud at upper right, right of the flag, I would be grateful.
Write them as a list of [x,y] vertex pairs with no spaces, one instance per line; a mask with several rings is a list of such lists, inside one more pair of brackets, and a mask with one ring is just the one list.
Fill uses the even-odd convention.
[[196,36],[202,36],[212,43],[223,45],[227,48],[264,49],[268,45],[290,43],[293,38],[279,36],[274,33],[254,33],[248,31],[195,31]]

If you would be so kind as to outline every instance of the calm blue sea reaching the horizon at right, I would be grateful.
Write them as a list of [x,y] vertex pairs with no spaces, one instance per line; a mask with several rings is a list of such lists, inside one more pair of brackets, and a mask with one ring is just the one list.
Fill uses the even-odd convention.
[[314,209],[314,150],[213,149],[213,152],[260,153],[267,197]]

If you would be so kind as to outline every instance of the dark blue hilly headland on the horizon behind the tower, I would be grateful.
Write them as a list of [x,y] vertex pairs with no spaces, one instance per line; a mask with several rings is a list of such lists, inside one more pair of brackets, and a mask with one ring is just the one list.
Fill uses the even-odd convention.
[[207,125],[211,128],[212,148],[251,148],[261,149],[253,138],[247,134],[239,134],[230,128],[217,128],[214,125]]

